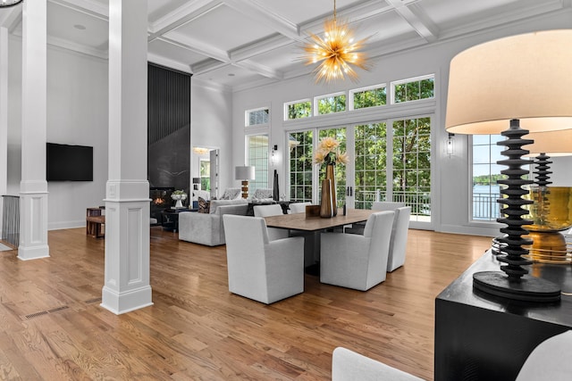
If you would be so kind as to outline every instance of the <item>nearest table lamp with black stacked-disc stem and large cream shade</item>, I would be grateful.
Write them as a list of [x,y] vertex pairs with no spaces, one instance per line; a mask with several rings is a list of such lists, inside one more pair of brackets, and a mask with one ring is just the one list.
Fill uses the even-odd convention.
[[[523,145],[533,143],[525,136],[572,128],[572,29],[548,30],[493,40],[456,55],[450,62],[449,93],[445,128],[455,134],[501,134],[507,137],[498,145],[507,166],[505,178],[498,181],[502,205],[498,222],[504,236],[498,260],[501,271],[481,271],[473,275],[473,286],[486,294],[528,302],[556,302],[558,285],[532,277],[524,266],[531,239],[523,219],[523,186],[533,181],[523,178],[529,161],[522,156]],[[521,127],[522,126],[522,127]]]

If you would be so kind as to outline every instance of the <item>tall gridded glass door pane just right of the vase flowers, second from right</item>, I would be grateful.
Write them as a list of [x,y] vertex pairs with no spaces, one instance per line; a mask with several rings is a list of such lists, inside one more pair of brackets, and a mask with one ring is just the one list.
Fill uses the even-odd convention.
[[354,128],[355,136],[355,206],[371,209],[374,201],[386,201],[387,130],[385,123]]

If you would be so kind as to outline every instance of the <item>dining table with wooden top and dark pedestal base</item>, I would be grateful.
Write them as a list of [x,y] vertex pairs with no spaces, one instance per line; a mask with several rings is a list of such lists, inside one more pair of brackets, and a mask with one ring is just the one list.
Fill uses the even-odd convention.
[[307,274],[319,275],[320,234],[332,228],[366,221],[375,211],[370,209],[347,209],[346,215],[342,210],[331,218],[307,217],[306,213],[281,214],[265,217],[266,227],[290,230],[290,236],[304,236],[304,265]]

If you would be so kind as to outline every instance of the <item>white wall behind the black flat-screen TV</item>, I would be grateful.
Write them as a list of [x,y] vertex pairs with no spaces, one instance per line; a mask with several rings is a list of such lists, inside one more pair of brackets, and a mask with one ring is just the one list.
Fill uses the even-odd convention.
[[[11,39],[7,192],[21,180],[21,39]],[[107,181],[107,61],[47,50],[47,141],[94,147],[93,182],[49,182],[48,229],[85,226],[86,208],[102,205]],[[25,137],[23,137],[25,138]],[[39,165],[46,165],[38,163]]]

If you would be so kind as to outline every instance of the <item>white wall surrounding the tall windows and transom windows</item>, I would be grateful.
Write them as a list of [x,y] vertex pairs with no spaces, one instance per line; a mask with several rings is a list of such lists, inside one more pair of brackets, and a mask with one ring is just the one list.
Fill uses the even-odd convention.
[[[357,85],[346,81],[330,86],[316,86],[313,83],[313,79],[301,77],[284,80],[279,84],[236,92],[232,96],[233,162],[241,162],[245,154],[245,110],[263,106],[271,108],[270,144],[277,144],[283,153],[286,131],[292,127],[333,126],[341,123],[350,123],[352,119],[354,121],[358,119],[360,119],[359,121],[364,121],[361,120],[363,119],[361,113],[345,112],[344,115],[333,117],[328,115],[311,118],[307,122],[284,122],[282,108],[285,102],[381,83],[387,83],[389,86],[391,80],[408,79],[434,73],[436,99],[433,104],[426,103],[427,107],[433,108],[434,111],[432,132],[434,147],[432,159],[433,228],[437,231],[496,236],[499,234],[498,228],[500,226],[497,223],[469,223],[468,137],[461,135],[455,137],[456,153],[454,156],[449,157],[442,154],[442,142],[447,137],[447,133],[444,130],[444,122],[450,60],[454,55],[467,49],[467,47],[495,38],[541,29],[572,28],[571,16],[572,11],[567,9],[548,16],[538,17],[534,20],[520,21],[505,27],[475,33],[471,36],[457,37],[433,44],[432,46],[381,57],[375,62],[373,70],[360,72],[360,83]],[[389,108],[385,111],[370,112],[367,118],[370,121],[380,120],[391,112]],[[416,111],[410,110],[406,112]],[[284,186],[284,173],[285,168],[282,159],[282,167],[279,170],[281,188]]]

